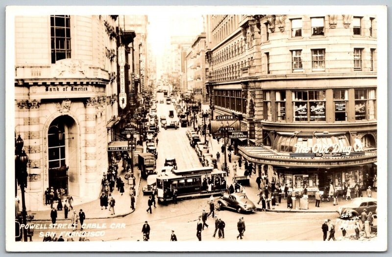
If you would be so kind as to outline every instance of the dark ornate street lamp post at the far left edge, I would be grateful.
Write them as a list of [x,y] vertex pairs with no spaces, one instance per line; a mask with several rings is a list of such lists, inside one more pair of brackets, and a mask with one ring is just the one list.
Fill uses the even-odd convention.
[[21,187],[22,194],[22,223],[23,223],[23,238],[24,241],[27,242],[27,212],[26,212],[26,203],[25,203],[25,187],[27,187],[27,162],[28,156],[23,150],[24,142],[21,138],[21,135],[18,135],[18,138],[15,140],[15,173],[19,186]]

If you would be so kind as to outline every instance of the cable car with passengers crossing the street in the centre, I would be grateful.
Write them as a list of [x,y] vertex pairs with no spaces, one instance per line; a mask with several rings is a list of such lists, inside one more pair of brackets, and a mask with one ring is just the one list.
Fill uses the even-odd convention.
[[173,170],[156,178],[158,203],[177,199],[222,194],[227,191],[227,174],[213,167]]

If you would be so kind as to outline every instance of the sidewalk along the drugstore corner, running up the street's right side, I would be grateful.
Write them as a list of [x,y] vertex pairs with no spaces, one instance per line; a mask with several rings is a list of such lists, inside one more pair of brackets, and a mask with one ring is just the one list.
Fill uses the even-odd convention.
[[[208,109],[208,106],[202,105],[202,109]],[[197,116],[198,117],[198,116]],[[199,123],[201,124],[201,118],[199,118]],[[200,136],[201,141],[204,141],[204,136]],[[216,157],[217,152],[221,154],[220,161],[218,162],[218,168],[221,167],[221,165],[224,162],[224,154],[221,153],[221,145],[223,144],[223,139],[220,139],[220,142],[218,143],[217,139],[213,139],[212,136],[210,137],[210,142],[209,142],[209,147],[211,148],[211,153],[213,154],[214,157]],[[228,151],[226,149],[226,154],[228,154]],[[234,152],[232,151],[231,155],[231,162],[229,162],[229,159],[227,158],[227,166],[230,169],[230,173],[227,176],[227,184],[230,185],[233,181],[234,173],[233,173],[233,164],[234,161],[237,163],[237,176],[243,176],[245,172],[244,168],[244,163],[241,167],[241,169],[238,167],[238,159],[239,155],[235,155]],[[244,158],[243,158],[244,161]],[[258,210],[261,210],[261,205],[258,205],[257,202],[259,201],[259,189],[256,183],[256,174],[252,174],[251,177],[249,178],[249,186],[245,186],[245,193],[246,196],[256,205]],[[243,185],[244,186],[244,185]],[[269,188],[270,189],[270,188]],[[271,193],[271,192],[270,192]],[[372,192],[373,193],[373,198],[377,198],[377,192]],[[366,195],[366,191],[363,192],[363,195]],[[342,205],[350,203],[350,201],[346,201],[345,198],[342,196],[339,197],[338,199],[338,205],[334,206],[333,205],[333,198],[329,199],[329,202],[324,199],[324,202],[320,202],[320,207],[316,207],[316,199],[314,197],[309,198],[308,202],[308,209],[301,209],[299,206],[299,199],[295,200],[295,206],[296,208],[289,209],[287,208],[287,199],[284,199],[282,196],[281,198],[281,203],[278,206],[275,206],[275,209],[267,209],[267,211],[273,211],[273,212],[336,212],[338,208]],[[294,206],[294,203],[293,203]],[[272,208],[272,206],[271,206]]]

